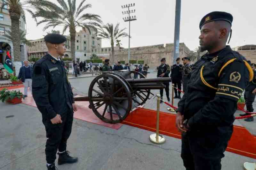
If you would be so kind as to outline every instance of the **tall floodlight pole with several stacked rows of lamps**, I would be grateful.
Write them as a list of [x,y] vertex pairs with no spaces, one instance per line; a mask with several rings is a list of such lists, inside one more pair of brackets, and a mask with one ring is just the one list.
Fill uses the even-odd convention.
[[131,30],[131,21],[135,21],[137,20],[136,16],[130,16],[130,13],[134,13],[135,10],[130,10],[130,7],[134,7],[135,6],[135,3],[133,4],[126,4],[126,5],[122,5],[122,8],[128,8],[128,11],[122,11],[123,15],[127,15],[128,14],[128,17],[124,17],[123,20],[124,22],[127,22],[129,21],[129,47],[128,47],[128,62],[130,61],[130,55],[131,55],[131,49],[130,49],[130,38],[131,38],[131,35],[130,35],[130,30]]

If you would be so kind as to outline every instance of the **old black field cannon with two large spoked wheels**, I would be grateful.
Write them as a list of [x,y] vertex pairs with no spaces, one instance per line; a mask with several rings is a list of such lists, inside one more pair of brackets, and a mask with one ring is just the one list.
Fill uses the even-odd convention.
[[133,108],[143,105],[154,96],[150,90],[163,89],[171,78],[145,78],[137,71],[120,70],[103,72],[90,84],[87,97],[75,101],[89,101],[89,108],[102,121],[122,122]]

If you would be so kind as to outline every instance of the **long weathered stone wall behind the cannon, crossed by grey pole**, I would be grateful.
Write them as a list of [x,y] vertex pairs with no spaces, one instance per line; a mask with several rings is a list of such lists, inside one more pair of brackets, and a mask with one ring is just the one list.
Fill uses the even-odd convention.
[[[188,56],[190,50],[184,43],[180,43],[179,49],[180,57]],[[144,60],[144,63],[152,69],[159,66],[161,59],[164,57],[166,62],[172,65],[173,43],[166,44],[165,47],[164,44],[159,44],[131,48],[131,60]],[[115,50],[114,62],[116,63],[118,60],[128,63],[128,48]]]

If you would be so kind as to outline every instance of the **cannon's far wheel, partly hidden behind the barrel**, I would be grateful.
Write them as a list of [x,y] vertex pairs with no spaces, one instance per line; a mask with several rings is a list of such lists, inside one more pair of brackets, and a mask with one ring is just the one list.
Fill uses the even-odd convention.
[[[130,71],[129,73],[131,74],[139,74],[138,78],[146,78],[142,73],[137,72],[137,71]],[[138,89],[133,89],[132,90],[132,94],[133,96],[135,96],[136,98],[132,98],[132,100],[135,103],[138,103],[139,105],[143,105],[144,103],[146,103],[146,101],[149,99],[150,96],[150,90],[138,90]],[[137,98],[139,98],[141,101],[136,100]]]

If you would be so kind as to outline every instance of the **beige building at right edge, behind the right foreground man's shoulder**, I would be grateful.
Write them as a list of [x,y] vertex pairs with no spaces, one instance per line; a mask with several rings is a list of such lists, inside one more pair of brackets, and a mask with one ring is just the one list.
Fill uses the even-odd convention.
[[244,45],[232,49],[250,60],[251,63],[256,63],[256,45]]

